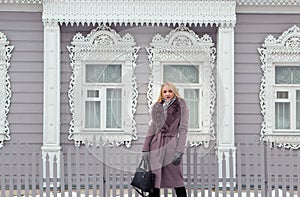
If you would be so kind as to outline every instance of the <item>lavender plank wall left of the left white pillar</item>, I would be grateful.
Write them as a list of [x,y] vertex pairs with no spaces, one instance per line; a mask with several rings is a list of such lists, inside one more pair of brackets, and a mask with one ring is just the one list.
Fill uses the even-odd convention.
[[11,140],[15,143],[42,144],[43,133],[43,24],[42,14],[0,12],[0,31],[14,45],[9,75],[11,105],[8,114]]

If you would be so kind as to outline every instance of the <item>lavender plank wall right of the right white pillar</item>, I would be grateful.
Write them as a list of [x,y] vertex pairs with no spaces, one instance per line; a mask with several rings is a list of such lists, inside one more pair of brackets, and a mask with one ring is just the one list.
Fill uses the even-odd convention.
[[[276,19],[276,20],[274,20]],[[235,26],[235,141],[246,158],[261,158],[263,166],[253,170],[259,174],[266,171],[276,175],[297,173],[293,158],[297,151],[273,148],[260,142],[262,115],[259,91],[262,77],[261,62],[257,48],[272,34],[276,39],[290,27],[300,26],[300,14],[237,14]],[[252,144],[252,145],[251,145]],[[256,144],[256,145],[255,145]],[[244,146],[244,147],[243,147]],[[293,154],[291,154],[293,153]],[[268,158],[268,159],[266,159]],[[251,160],[242,161],[242,171],[251,165]],[[252,167],[249,169],[252,172]]]

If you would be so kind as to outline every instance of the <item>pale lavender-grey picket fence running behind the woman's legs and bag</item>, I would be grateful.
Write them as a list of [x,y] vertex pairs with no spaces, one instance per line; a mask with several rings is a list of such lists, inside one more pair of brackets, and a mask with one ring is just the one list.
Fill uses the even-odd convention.
[[[287,168],[295,169],[291,172],[296,172],[289,174],[288,170],[280,172],[282,164],[272,162],[278,155],[266,151],[244,154],[239,151],[242,148],[238,146],[236,153],[223,155],[221,160],[213,150],[203,154],[199,148],[187,148],[183,170],[188,196],[300,196],[299,159],[286,164]],[[130,182],[140,153],[99,146],[74,148],[57,158],[42,157],[38,148],[23,150],[23,153],[0,153],[1,197],[139,196]],[[162,189],[161,195],[176,196],[173,189]]]

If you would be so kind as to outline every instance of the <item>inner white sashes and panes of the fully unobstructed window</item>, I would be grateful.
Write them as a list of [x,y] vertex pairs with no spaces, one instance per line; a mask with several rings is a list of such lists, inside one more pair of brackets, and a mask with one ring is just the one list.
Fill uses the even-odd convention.
[[85,65],[84,130],[122,128],[121,68],[121,64]]

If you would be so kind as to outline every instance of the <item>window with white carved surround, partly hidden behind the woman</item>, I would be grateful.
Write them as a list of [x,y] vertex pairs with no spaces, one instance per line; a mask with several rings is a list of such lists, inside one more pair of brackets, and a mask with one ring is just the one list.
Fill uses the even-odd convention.
[[160,85],[173,82],[189,107],[188,141],[191,146],[209,146],[215,140],[215,48],[208,35],[199,38],[179,26],[163,38],[156,35],[147,48],[150,60],[149,108],[158,98]]

